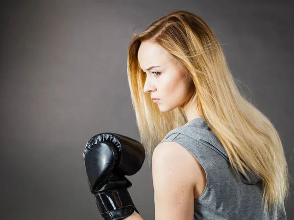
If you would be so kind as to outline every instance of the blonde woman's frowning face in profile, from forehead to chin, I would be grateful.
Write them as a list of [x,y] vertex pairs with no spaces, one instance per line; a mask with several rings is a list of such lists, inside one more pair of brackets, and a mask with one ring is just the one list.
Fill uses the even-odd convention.
[[[157,102],[159,109],[162,112],[176,107],[185,109],[195,90],[188,70],[164,47],[151,41],[141,43],[138,60],[141,69],[147,74],[144,92],[150,94],[150,99],[160,99]],[[152,66],[158,67],[149,69]]]

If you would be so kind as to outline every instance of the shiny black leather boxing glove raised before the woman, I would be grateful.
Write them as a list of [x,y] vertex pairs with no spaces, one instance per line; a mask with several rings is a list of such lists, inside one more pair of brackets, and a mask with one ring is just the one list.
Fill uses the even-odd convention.
[[86,144],[84,162],[91,193],[104,220],[122,220],[136,209],[125,177],[136,174],[145,160],[143,145],[117,133],[99,133]]

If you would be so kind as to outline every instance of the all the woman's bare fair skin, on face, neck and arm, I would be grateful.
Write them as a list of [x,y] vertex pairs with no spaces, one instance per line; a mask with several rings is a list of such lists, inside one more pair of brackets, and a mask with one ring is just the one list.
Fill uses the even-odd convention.
[[[150,94],[150,98],[160,99],[156,104],[162,112],[181,107],[188,121],[201,117],[196,111],[191,75],[165,48],[144,41],[138,60],[147,74],[144,92]],[[160,67],[147,70],[150,66]],[[160,143],[152,155],[152,177],[155,220],[193,220],[194,199],[206,185],[204,169],[194,155],[175,142]],[[134,211],[125,220],[143,218]]]

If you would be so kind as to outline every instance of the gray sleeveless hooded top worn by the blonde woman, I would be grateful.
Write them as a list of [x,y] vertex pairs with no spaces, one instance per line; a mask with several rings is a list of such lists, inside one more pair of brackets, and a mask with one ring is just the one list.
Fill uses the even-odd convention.
[[[285,206],[263,212],[261,179],[231,167],[221,142],[203,117],[175,128],[161,142],[174,141],[193,154],[206,174],[204,192],[194,200],[194,220],[286,220]],[[160,142],[160,143],[161,143]],[[245,171],[247,172],[247,171]]]

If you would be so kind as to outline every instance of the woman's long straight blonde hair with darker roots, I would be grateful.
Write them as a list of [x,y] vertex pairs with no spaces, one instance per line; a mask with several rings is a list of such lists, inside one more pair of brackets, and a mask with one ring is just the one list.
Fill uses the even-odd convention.
[[[216,35],[201,18],[177,10],[150,24],[128,46],[127,75],[141,142],[149,155],[172,129],[187,123],[177,107],[161,112],[143,91],[146,75],[138,62],[141,42],[160,44],[185,66],[196,88],[197,111],[227,152],[232,167],[262,179],[264,211],[289,197],[289,173],[278,132],[238,90]],[[245,173],[245,172],[244,172]],[[245,174],[246,176],[246,174]],[[246,178],[249,178],[246,176]]]

